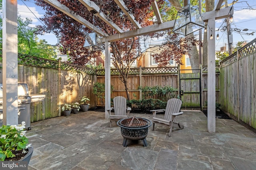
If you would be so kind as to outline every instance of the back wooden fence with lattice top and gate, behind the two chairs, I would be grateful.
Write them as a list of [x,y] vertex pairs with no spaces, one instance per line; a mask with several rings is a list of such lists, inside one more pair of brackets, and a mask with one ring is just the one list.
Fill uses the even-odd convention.
[[[201,99],[193,97],[194,91],[192,91],[194,86],[199,89],[199,84],[195,84],[191,79],[193,74],[198,73],[181,73],[180,67],[154,67],[154,68],[131,68],[130,74],[128,76],[128,89],[130,94],[130,99],[142,99],[142,94],[138,90],[139,86],[172,86],[173,88],[178,89],[177,95],[180,96],[180,86],[186,87],[186,92],[190,93],[186,98],[180,96],[182,99],[182,107],[189,109],[194,107],[200,107],[200,102],[202,103],[201,109],[207,107],[207,66],[201,66],[201,74],[199,78],[201,79]],[[96,70],[97,82],[105,83],[105,70]],[[184,79],[180,85],[180,77]],[[216,67],[216,102],[219,103],[219,72],[218,67]],[[115,96],[124,96],[127,98],[124,83],[122,82],[122,76],[120,76],[117,69],[111,69],[110,83],[114,86],[113,93],[111,98]],[[98,105],[100,103],[98,102]],[[198,106],[199,105],[199,106]],[[199,108],[200,109],[200,108]]]

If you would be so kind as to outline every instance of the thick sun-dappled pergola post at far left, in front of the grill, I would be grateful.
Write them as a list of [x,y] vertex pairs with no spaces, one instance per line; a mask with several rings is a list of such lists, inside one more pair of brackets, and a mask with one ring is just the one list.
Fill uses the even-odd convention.
[[18,125],[17,1],[3,0],[3,124]]

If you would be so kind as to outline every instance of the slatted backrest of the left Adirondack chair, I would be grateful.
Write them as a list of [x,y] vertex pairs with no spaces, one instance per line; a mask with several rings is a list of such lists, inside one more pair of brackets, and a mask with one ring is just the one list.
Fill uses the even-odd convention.
[[126,98],[116,96],[113,99],[115,115],[126,115]]

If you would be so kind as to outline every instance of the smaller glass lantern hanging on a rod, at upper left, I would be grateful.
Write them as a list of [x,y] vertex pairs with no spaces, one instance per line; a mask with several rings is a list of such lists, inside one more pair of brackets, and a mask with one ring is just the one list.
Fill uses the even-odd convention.
[[94,32],[94,14],[96,14],[97,12],[94,10],[90,12],[93,13],[93,32],[88,33],[86,35],[84,48],[88,49],[89,51],[101,51],[104,49],[101,41],[101,37],[96,32]]

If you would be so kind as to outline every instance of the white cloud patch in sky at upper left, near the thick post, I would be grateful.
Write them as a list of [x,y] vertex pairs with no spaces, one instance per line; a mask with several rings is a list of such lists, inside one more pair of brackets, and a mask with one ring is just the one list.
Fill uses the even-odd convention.
[[38,25],[39,23],[37,22],[40,22],[40,21],[36,19],[34,14],[28,8],[36,15],[38,19],[43,16],[42,14],[38,14],[36,7],[26,7],[25,5],[20,5],[20,4],[18,4],[18,15],[20,15],[22,18],[31,18],[32,20],[31,25]]

